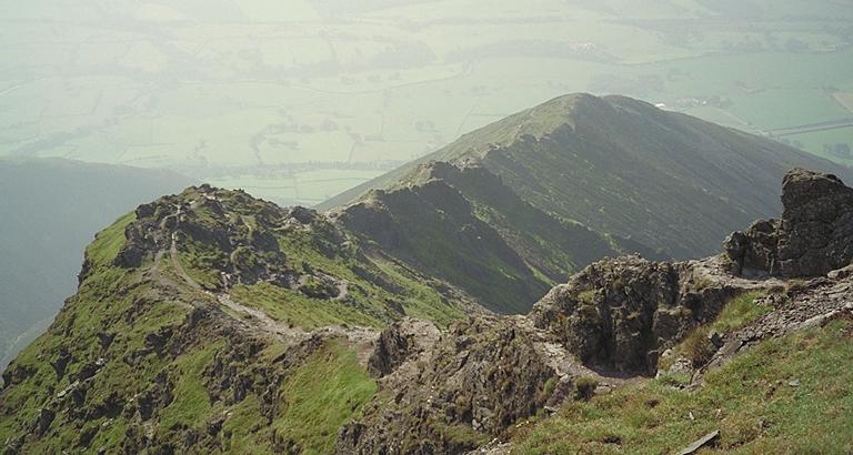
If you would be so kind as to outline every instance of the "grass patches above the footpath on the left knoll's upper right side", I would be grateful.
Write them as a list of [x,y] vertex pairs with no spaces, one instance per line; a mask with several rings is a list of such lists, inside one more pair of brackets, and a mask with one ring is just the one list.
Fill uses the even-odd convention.
[[[194,198],[191,192],[188,194],[187,199]],[[269,210],[267,203],[245,198],[240,202],[229,202],[229,198],[235,196],[234,193],[223,194],[231,212],[217,215],[203,206],[195,208],[198,216],[193,222],[213,230],[239,229],[240,223],[234,221],[239,216],[243,223],[252,224],[254,230],[262,230],[258,226],[255,214]],[[264,232],[274,236],[292,270],[308,267],[322,271],[348,283],[345,301],[315,299],[269,283],[237,285],[231,290],[235,301],[261,309],[274,320],[305,330],[332,324],[381,327],[402,316],[390,310],[391,302],[399,303],[407,315],[422,316],[442,325],[464,315],[459,306],[443,299],[434,289],[424,286],[410,269],[391,265],[381,256],[369,257],[354,242],[341,244],[339,233],[324,221],[318,221],[310,230],[275,228]],[[189,236],[180,242],[179,257],[188,274],[211,290],[219,285],[219,271],[229,261],[228,254],[215,243]],[[259,256],[254,260],[263,262],[265,259]],[[393,286],[383,287],[371,282],[365,277],[370,274],[381,276]]]

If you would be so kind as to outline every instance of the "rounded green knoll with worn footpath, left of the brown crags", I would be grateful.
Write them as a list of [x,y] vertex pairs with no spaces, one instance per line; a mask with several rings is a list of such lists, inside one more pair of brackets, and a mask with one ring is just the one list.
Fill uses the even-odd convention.
[[[436,291],[440,290],[440,291]],[[80,287],[3,374],[6,453],[325,453],[404,316],[474,312],[304,209],[193,188],[86,253]]]

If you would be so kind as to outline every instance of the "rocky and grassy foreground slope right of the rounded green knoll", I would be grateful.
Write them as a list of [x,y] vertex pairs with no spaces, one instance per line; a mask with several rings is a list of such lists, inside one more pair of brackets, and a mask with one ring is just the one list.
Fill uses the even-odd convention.
[[[839,183],[789,174],[780,224],[820,213],[850,191]],[[814,200],[791,205],[797,194]],[[845,228],[819,240],[853,241]],[[810,281],[741,276],[729,255],[604,260],[526,316],[472,317],[440,337],[397,323],[371,357],[378,393],[335,452],[658,454],[703,441],[723,453],[849,453],[853,264],[832,254],[846,267]]]

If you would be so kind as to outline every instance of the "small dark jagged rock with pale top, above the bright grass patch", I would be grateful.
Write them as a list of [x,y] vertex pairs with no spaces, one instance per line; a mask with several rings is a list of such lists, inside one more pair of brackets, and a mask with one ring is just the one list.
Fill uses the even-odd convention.
[[430,322],[411,318],[395,322],[379,335],[368,361],[368,371],[382,377],[430,347],[439,336],[439,328]]

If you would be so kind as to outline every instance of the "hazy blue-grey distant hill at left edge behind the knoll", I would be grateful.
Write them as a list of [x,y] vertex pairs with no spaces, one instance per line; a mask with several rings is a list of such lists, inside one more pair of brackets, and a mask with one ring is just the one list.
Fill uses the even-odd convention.
[[0,368],[74,293],[83,249],[98,230],[191,183],[167,171],[0,159]]

